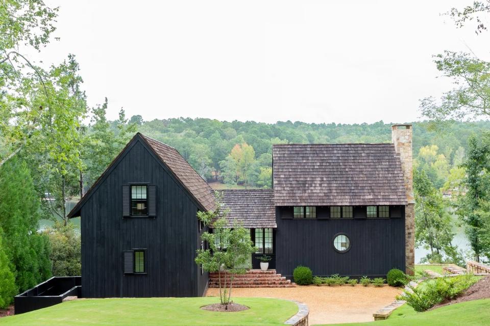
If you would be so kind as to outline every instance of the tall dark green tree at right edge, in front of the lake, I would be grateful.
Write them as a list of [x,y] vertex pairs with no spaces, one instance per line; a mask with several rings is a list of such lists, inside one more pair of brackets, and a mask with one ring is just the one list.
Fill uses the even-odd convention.
[[490,259],[490,247],[484,240],[487,237],[487,205],[490,200],[490,133],[486,132],[469,139],[467,158],[462,167],[466,170],[463,184],[466,193],[457,202],[456,213],[466,224],[466,234],[474,258]]

